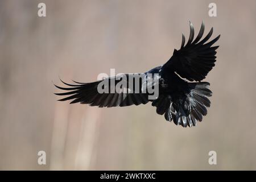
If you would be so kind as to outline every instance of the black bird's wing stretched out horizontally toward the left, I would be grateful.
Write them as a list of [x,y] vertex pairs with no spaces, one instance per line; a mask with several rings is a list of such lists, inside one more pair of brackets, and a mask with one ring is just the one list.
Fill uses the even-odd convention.
[[[81,83],[75,82],[76,85],[67,84],[64,81],[63,84],[68,85],[69,88],[63,88],[55,85],[61,90],[66,90],[64,93],[55,93],[57,96],[65,96],[65,98],[60,99],[59,101],[73,100],[70,104],[80,102],[80,104],[89,104],[90,106],[99,106],[99,107],[116,107],[116,106],[130,106],[130,105],[140,105],[147,104],[148,97],[146,93],[138,93],[136,90],[129,88],[129,85],[126,87],[125,84],[121,84],[122,77],[119,76],[119,79],[116,80],[116,77],[105,78],[101,81],[90,82],[90,83]],[[127,77],[129,78],[129,77]],[[106,81],[109,85],[105,85],[108,88],[108,92],[99,92],[98,85],[102,85],[102,81]],[[128,83],[129,80],[124,81],[123,83]],[[114,84],[111,84],[114,83]],[[119,87],[116,87],[119,83]],[[139,83],[141,90],[142,81]],[[105,86],[102,86],[104,88]],[[116,88],[119,88],[116,89]],[[135,88],[133,86],[133,88]],[[126,89],[126,91],[124,91]]]

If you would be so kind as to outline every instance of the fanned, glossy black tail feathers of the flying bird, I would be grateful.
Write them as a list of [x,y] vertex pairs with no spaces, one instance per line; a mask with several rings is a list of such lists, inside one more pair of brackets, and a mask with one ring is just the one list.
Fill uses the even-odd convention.
[[[197,121],[201,122],[204,115],[207,115],[207,107],[212,96],[208,82],[188,83],[184,89],[185,94],[177,98],[171,95],[160,95],[152,102],[156,106],[158,114],[164,114],[167,121],[174,121],[175,125],[183,127],[196,126]],[[187,90],[187,91],[185,91]]]

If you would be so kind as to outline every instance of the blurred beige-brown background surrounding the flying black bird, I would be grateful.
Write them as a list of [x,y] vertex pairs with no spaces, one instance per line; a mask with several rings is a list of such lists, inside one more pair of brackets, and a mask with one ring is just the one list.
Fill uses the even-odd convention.
[[[46,17],[38,3],[46,3]],[[256,2],[0,1],[0,169],[256,169]],[[214,27],[212,105],[183,128],[150,104],[98,108],[57,102],[59,77],[144,72],[165,63],[181,32]],[[38,151],[46,151],[46,165]],[[208,152],[217,152],[209,165]]]

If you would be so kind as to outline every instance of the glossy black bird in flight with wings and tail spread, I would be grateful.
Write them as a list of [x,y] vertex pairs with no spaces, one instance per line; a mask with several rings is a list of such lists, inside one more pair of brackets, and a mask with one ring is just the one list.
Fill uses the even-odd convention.
[[[212,36],[213,28],[200,41],[204,34],[204,23],[201,24],[199,34],[194,38],[193,24],[189,22],[190,35],[187,44],[185,45],[185,36],[182,34],[182,42],[179,50],[174,49],[172,57],[167,63],[151,69],[143,73],[146,77],[149,73],[158,73],[159,75],[159,95],[155,99],[148,99],[148,92],[110,92],[99,93],[98,85],[104,81],[113,81],[114,85],[109,86],[109,90],[113,90],[119,81],[124,76],[129,77],[131,74],[124,74],[117,77],[108,77],[101,81],[67,84],[68,88],[63,88],[55,85],[61,90],[68,90],[64,93],[56,93],[58,96],[66,96],[59,101],[73,100],[71,104],[80,102],[81,104],[89,104],[90,106],[99,107],[116,107],[147,104],[152,102],[152,106],[156,107],[156,113],[163,115],[167,121],[174,121],[176,125],[183,127],[196,126],[197,121],[202,121],[203,115],[207,115],[207,107],[210,106],[210,101],[207,97],[212,96],[209,90],[209,82],[200,82],[207,76],[209,71],[214,67],[216,61],[216,49],[218,46],[212,47],[217,42],[217,38],[206,43]],[[139,76],[139,74],[137,75]],[[181,78],[182,77],[182,78]],[[143,90],[143,85],[146,79],[139,81],[139,90]],[[188,81],[198,82],[188,82]],[[129,79],[126,80],[129,82]],[[154,85],[154,84],[153,84]],[[134,85],[133,85],[134,86]],[[156,85],[155,85],[156,86]],[[105,86],[104,86],[105,87]],[[121,87],[122,89],[122,87]],[[131,85],[128,89],[134,91]]]

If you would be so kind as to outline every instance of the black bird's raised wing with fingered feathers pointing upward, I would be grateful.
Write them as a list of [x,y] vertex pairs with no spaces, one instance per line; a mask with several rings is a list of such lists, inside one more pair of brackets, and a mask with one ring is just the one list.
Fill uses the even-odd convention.
[[215,55],[218,46],[211,46],[220,38],[220,35],[205,44],[205,42],[209,40],[210,36],[212,36],[213,28],[211,28],[208,35],[199,42],[204,34],[203,22],[201,24],[199,34],[193,41],[194,28],[191,22],[189,22],[189,25],[190,35],[187,44],[184,46],[185,36],[182,34],[181,48],[179,51],[176,49],[174,50],[174,55],[166,64],[163,65],[163,67],[175,71],[178,75],[183,78],[187,78],[189,81],[201,81],[215,65]]

